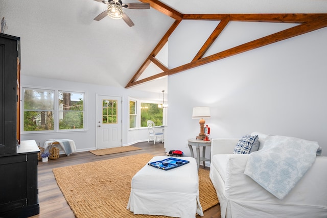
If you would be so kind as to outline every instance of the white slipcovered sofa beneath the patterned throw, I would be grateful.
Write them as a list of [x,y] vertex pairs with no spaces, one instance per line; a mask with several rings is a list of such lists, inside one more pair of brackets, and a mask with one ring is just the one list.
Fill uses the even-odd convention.
[[[265,134],[258,132],[260,147]],[[244,174],[249,154],[232,154],[239,139],[213,139],[210,178],[221,217],[327,217],[327,157],[317,156],[307,173],[283,199]]]

